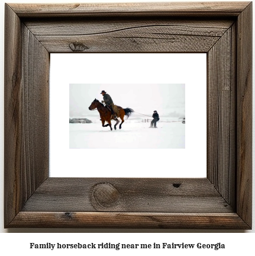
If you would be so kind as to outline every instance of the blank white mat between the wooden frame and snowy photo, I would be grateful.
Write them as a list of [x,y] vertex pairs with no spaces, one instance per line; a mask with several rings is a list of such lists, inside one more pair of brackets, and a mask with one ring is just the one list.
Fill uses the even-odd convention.
[[[205,53],[63,53],[50,65],[51,177],[206,177]],[[82,83],[185,84],[185,149],[69,149],[69,84]]]

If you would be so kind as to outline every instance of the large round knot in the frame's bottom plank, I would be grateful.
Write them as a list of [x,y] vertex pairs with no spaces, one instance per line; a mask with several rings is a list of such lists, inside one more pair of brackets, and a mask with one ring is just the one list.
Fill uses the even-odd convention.
[[92,197],[101,207],[112,207],[118,204],[120,193],[110,183],[98,183],[92,188]]

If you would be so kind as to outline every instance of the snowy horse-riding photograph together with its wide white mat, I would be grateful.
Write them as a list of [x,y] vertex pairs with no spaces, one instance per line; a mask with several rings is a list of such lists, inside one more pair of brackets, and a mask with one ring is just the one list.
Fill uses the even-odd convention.
[[[50,73],[50,177],[206,177],[206,53],[54,53]],[[104,90],[121,129],[89,110]]]

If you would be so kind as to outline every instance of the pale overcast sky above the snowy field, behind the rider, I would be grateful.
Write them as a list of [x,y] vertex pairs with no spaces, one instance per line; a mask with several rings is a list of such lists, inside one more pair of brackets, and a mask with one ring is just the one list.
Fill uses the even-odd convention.
[[88,107],[95,98],[103,99],[102,90],[122,108],[130,107],[149,116],[157,110],[160,117],[185,117],[185,84],[70,84],[70,118],[98,116],[98,111]]

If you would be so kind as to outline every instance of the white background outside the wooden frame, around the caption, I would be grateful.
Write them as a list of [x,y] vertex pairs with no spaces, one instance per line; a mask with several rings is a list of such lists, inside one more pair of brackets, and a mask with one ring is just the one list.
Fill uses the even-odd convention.
[[[163,0],[162,0],[163,1]],[[176,1],[176,0],[175,0]],[[187,0],[186,0],[187,1]],[[70,1],[11,1],[9,0],[8,2],[70,2]],[[79,2],[86,2],[80,0]],[[90,0],[88,2],[102,2],[102,1],[96,1],[96,0]],[[110,1],[108,2],[115,2],[115,1]],[[118,0],[117,2],[122,2],[121,0]],[[132,2],[125,0],[124,2]],[[140,1],[143,2],[143,1]],[[149,0],[146,0],[145,2],[149,2]],[[3,53],[4,53],[4,43],[3,43],[3,38],[4,38],[4,2],[1,2],[1,60],[0,62],[0,75],[1,75],[1,86],[3,85]],[[255,27],[253,25],[253,27]],[[254,36],[254,32],[253,32]],[[253,40],[255,41],[255,40]],[[254,55],[253,55],[254,56]],[[253,57],[253,62],[254,62],[254,57]],[[253,78],[254,78],[254,72],[253,72]],[[3,95],[2,90],[0,91],[1,93],[1,98]],[[253,94],[254,98],[254,94]],[[2,107],[2,106],[1,106]],[[3,110],[3,107],[2,107]],[[254,111],[253,111],[254,113]],[[1,129],[2,129],[2,111],[1,111]],[[254,127],[254,126],[253,126]],[[1,143],[3,141],[2,133],[0,137]],[[3,166],[3,158],[2,158],[2,148],[1,148],[1,167]],[[0,182],[1,182],[1,203],[0,203],[0,232],[9,232],[7,233],[1,233],[0,234],[0,252],[2,255],[8,255],[16,253],[19,255],[26,254],[26,255],[45,255],[46,253],[49,253],[50,251],[45,251],[45,250],[38,250],[38,251],[31,251],[28,249],[29,247],[29,242],[38,242],[38,243],[43,243],[43,242],[117,242],[117,241],[125,241],[126,243],[128,242],[143,242],[147,241],[148,243],[151,241],[159,241],[159,242],[222,242],[227,245],[227,249],[224,249],[222,251],[166,251],[166,252],[161,252],[161,254],[166,254],[170,255],[171,253],[176,253],[179,252],[180,255],[187,255],[187,252],[189,255],[240,255],[240,254],[252,254],[254,252],[254,239],[255,239],[255,228],[253,228],[252,231],[246,231],[246,233],[250,234],[242,234],[244,231],[215,231],[215,230],[202,230],[202,231],[195,231],[195,230],[162,230],[162,229],[146,229],[146,230],[141,230],[141,229],[45,229],[45,228],[21,228],[21,229],[4,229],[3,228],[3,171],[1,168],[1,176],[0,176]],[[253,184],[255,184],[254,178],[253,178]],[[255,194],[253,192],[253,209],[254,209],[254,198]],[[255,213],[255,210],[253,210],[253,213]],[[255,227],[255,221],[253,218],[253,227]],[[38,233],[26,233],[26,234],[15,234],[15,232],[38,232]],[[45,233],[47,232],[47,234]],[[49,233],[48,233],[49,232]],[[54,234],[51,232],[75,232],[72,233],[71,235],[68,234]],[[82,232],[82,233],[79,233]],[[109,233],[102,233],[102,234],[94,234],[95,232],[109,232]],[[116,233],[120,232],[120,233]],[[122,233],[125,232],[125,233]],[[134,232],[134,233],[126,233],[126,232]],[[138,232],[150,232],[150,233],[138,233]],[[155,233],[157,232],[157,233]],[[158,233],[159,232],[159,233]],[[175,233],[173,233],[175,232]],[[176,232],[182,232],[182,234],[178,234]],[[192,234],[191,234],[192,232]],[[195,233],[193,233],[195,232]],[[218,233],[215,233],[218,232]],[[226,233],[227,232],[227,233]],[[232,233],[229,233],[232,232]],[[156,241],[156,242],[157,242]],[[75,251],[60,251],[58,252],[59,255],[70,255],[70,252],[75,252]],[[89,251],[91,252],[91,251]],[[53,254],[53,252],[50,252]],[[104,254],[114,253],[113,251],[104,251]],[[116,253],[116,252],[115,252]],[[120,251],[117,252],[118,255],[120,255]],[[141,254],[141,251],[127,251],[125,252],[126,254]],[[155,251],[146,251],[146,254],[155,254]],[[159,252],[156,252],[159,253]],[[85,255],[86,251],[81,251],[79,254],[75,255]],[[57,255],[57,254],[54,254]]]

